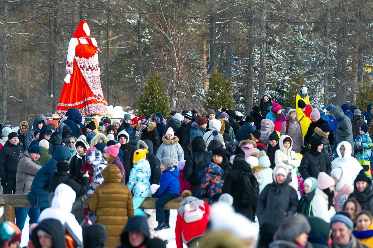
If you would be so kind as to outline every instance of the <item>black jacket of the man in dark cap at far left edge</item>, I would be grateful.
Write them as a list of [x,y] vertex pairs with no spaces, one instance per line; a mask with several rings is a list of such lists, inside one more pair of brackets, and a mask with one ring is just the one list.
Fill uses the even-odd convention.
[[0,150],[0,178],[4,182],[7,178],[16,178],[19,155],[23,153],[21,144],[16,146],[9,140]]

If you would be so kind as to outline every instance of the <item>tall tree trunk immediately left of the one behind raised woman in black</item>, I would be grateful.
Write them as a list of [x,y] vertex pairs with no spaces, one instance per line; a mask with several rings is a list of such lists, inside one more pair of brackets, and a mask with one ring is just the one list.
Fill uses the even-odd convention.
[[250,113],[253,106],[253,67],[254,67],[254,44],[255,44],[255,26],[254,26],[254,1],[251,0],[250,7],[250,50],[247,69],[247,88],[246,88],[246,115]]

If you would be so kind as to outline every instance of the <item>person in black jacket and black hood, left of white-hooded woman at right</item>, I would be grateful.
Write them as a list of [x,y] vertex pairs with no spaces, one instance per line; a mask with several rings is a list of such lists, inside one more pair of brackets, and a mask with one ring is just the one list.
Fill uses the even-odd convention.
[[302,158],[299,172],[303,178],[317,178],[320,172],[330,175],[332,163],[323,150],[323,140],[317,136],[310,137],[311,150],[306,152]]

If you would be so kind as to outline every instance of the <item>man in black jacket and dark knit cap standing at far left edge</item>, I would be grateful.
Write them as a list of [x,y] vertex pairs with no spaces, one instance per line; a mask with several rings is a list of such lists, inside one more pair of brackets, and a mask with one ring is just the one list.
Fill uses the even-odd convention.
[[23,153],[23,147],[18,142],[17,133],[9,133],[8,141],[0,150],[0,177],[1,186],[4,188],[4,194],[16,193],[18,157]]

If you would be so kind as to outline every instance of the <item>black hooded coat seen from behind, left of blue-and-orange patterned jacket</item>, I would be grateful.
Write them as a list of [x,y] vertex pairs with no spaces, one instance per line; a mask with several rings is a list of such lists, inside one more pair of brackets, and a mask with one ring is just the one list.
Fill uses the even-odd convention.
[[192,154],[185,161],[183,173],[185,180],[190,182],[192,186],[201,185],[202,178],[200,177],[199,172],[202,171],[204,163],[212,160],[212,154],[206,152],[205,149],[206,142],[204,142],[201,136],[195,137],[189,143],[189,150]]

